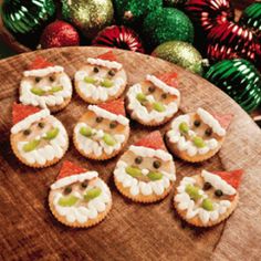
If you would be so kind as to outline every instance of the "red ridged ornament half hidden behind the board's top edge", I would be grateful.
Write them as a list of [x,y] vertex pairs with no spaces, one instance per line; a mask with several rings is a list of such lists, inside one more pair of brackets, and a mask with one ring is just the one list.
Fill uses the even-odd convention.
[[144,53],[144,48],[138,34],[130,28],[124,25],[105,28],[93,40],[92,44]]

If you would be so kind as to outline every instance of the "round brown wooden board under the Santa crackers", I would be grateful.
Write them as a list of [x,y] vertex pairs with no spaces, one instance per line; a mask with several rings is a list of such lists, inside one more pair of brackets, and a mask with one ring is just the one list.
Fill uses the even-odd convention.
[[[70,76],[87,56],[105,52],[98,48],[65,48],[40,51],[50,61],[64,65]],[[134,84],[147,73],[178,72],[182,95],[180,113],[207,109],[232,113],[234,119],[220,153],[203,164],[175,158],[178,180],[207,169],[243,168],[236,212],[210,229],[196,229],[181,222],[171,207],[173,192],[161,202],[134,203],[116,190],[112,171],[117,157],[105,163],[90,161],[72,145],[64,159],[100,171],[113,194],[113,209],[101,225],[91,229],[70,229],[59,223],[48,208],[49,186],[61,161],[34,170],[18,161],[10,149],[11,105],[18,100],[22,72],[35,53],[0,61],[0,258],[42,260],[257,260],[261,258],[261,132],[252,119],[217,87],[176,65],[150,56],[115,50]],[[70,137],[86,104],[74,93],[72,103],[56,116]],[[164,133],[167,126],[160,130]],[[132,122],[128,145],[150,132]]]

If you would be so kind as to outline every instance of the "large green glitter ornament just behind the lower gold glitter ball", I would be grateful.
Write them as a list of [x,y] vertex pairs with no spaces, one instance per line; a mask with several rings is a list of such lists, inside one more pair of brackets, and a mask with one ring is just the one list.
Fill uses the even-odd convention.
[[178,9],[159,8],[145,18],[143,35],[149,48],[171,40],[191,43],[194,27],[189,18]]

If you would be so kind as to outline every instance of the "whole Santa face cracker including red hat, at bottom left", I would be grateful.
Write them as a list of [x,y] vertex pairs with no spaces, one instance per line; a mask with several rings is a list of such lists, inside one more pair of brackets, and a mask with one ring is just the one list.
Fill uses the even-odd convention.
[[87,228],[107,216],[112,195],[96,171],[64,161],[56,181],[51,185],[49,206],[60,222]]

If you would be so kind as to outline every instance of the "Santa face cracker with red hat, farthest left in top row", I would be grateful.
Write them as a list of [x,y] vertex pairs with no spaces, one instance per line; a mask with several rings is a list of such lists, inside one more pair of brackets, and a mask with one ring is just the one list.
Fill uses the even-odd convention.
[[72,82],[62,66],[39,56],[23,72],[19,97],[22,104],[58,112],[70,103],[71,97]]

